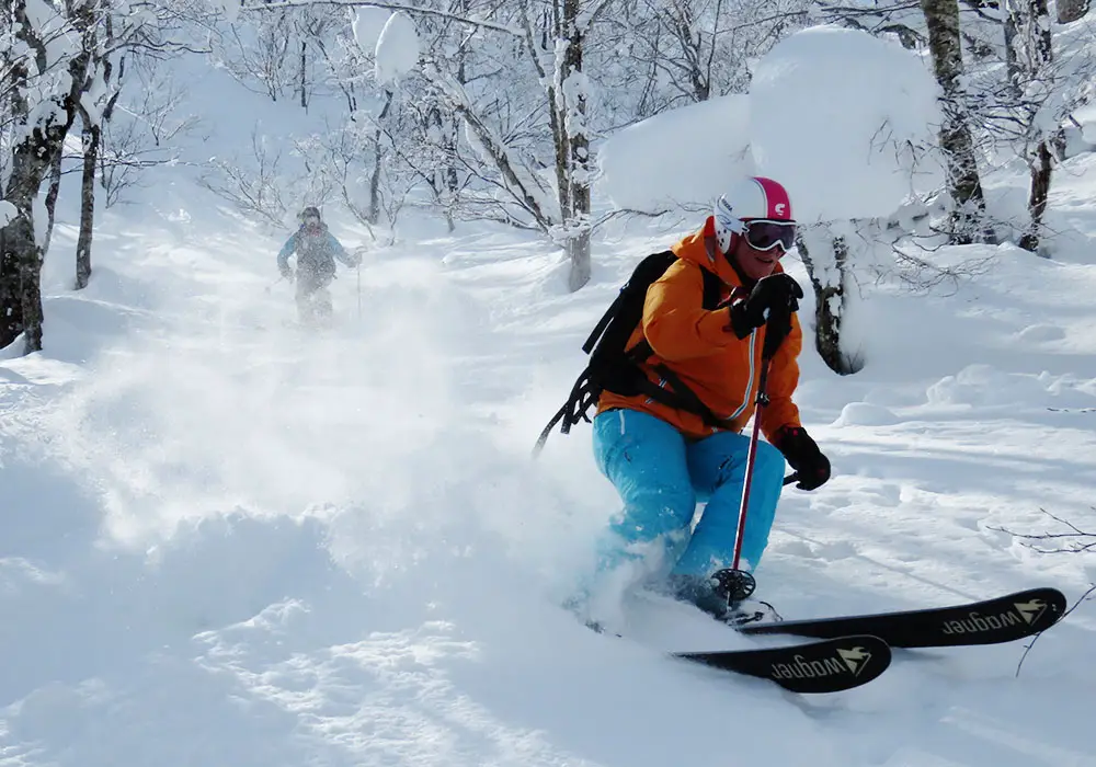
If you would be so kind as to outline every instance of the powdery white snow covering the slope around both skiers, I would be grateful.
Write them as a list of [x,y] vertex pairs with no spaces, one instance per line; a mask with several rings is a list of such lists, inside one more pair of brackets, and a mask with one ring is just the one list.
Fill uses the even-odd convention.
[[[695,114],[669,119],[726,129]],[[682,188],[635,146],[638,193]],[[692,146],[680,162],[700,167],[711,141]],[[1096,533],[1093,158],[1055,174],[1053,261],[940,249],[985,263],[923,294],[878,282],[856,318],[863,371],[804,345],[797,399],[834,478],[781,499],[757,577],[786,617],[1034,585],[1072,604],[1096,580],[1093,552],[1005,531],[1069,531],[1053,515]],[[527,234],[407,214],[379,248],[330,213],[367,255],[361,293],[340,267],[336,324],[316,334],[275,283],[286,232],[162,172],[102,216],[81,291],[62,193],[46,351],[0,353],[3,767],[1096,765],[1092,602],[1018,676],[1023,643],[905,652],[824,697],[666,657],[751,643],[689,608],[636,610],[632,641],[559,607],[618,500],[589,426],[529,449],[618,286],[700,213],[598,230],[573,295]]]

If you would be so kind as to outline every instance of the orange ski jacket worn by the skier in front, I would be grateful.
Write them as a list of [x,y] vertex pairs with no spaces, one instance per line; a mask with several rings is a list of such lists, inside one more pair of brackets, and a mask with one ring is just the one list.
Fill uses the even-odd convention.
[[[673,424],[686,437],[700,439],[720,431],[741,432],[754,414],[761,378],[765,328],[745,339],[729,330],[730,309],[701,308],[704,278],[700,270],[715,272],[723,283],[721,300],[738,293],[747,295],[738,273],[719,253],[709,216],[701,229],[673,245],[677,261],[647,291],[643,320],[628,340],[628,348],[644,336],[653,354],[639,365],[659,386],[655,368],[665,365],[676,374],[726,426],[705,423],[699,415],[655,402],[644,394],[626,397],[604,391],[597,412],[624,408],[650,413]],[[777,272],[783,272],[780,265]],[[799,384],[799,352],[803,333],[799,318],[791,316],[791,332],[780,344],[769,366],[766,390],[769,404],[762,413],[761,430],[774,442],[784,426],[800,426],[799,409],[791,397]]]

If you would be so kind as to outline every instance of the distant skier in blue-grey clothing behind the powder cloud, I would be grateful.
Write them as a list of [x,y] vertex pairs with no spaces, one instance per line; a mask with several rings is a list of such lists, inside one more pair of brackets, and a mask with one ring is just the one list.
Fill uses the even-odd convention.
[[335,259],[346,266],[357,266],[361,256],[351,255],[328,231],[319,208],[308,206],[297,216],[300,228],[277,254],[277,267],[286,279],[294,279],[289,256],[297,254],[297,316],[301,324],[313,325],[331,320],[331,293],[328,285],[335,277]]

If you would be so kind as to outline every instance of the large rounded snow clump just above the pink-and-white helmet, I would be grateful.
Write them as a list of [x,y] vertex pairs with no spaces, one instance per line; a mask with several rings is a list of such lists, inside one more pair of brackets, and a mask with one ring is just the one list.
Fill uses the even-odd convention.
[[751,149],[780,181],[800,221],[893,214],[934,190],[940,116],[927,61],[898,43],[837,26],[777,43],[753,69]]

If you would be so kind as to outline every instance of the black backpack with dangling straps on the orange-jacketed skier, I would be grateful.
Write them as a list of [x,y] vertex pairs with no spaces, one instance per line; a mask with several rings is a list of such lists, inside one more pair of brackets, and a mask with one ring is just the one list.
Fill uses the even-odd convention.
[[[603,391],[612,391],[625,397],[647,394],[657,402],[662,402],[680,410],[695,413],[711,425],[719,425],[720,420],[708,409],[673,370],[665,365],[655,368],[666,387],[660,387],[643,374],[639,364],[651,356],[651,345],[642,339],[631,348],[625,348],[636,327],[643,318],[643,302],[647,300],[647,289],[677,261],[673,251],[663,251],[647,256],[636,266],[631,277],[620,288],[616,299],[598,320],[590,337],[582,344],[582,351],[590,355],[590,363],[579,375],[571,388],[567,402],[545,426],[533,448],[536,456],[545,446],[548,435],[556,424],[560,424],[560,434],[567,434],[571,426],[585,421],[590,423],[586,412],[593,407]],[[709,311],[718,308],[722,293],[722,281],[715,273],[700,267],[704,275],[704,297],[701,306]]]

